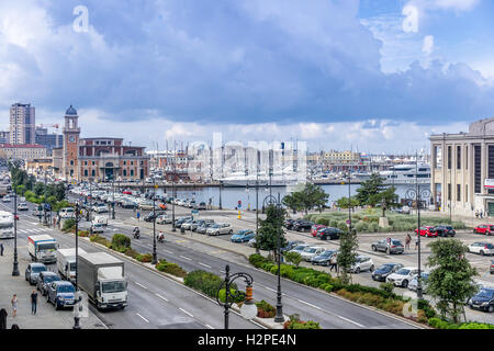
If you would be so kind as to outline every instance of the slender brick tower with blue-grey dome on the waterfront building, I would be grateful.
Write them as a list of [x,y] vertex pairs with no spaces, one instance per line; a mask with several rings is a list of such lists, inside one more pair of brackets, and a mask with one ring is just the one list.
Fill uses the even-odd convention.
[[67,181],[79,179],[79,134],[80,128],[77,125],[79,116],[76,109],[70,105],[65,112],[64,126],[64,170],[63,177]]

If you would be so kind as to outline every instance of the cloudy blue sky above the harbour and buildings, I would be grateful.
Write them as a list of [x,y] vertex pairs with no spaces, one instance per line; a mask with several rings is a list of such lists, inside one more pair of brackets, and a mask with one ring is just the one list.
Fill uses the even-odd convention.
[[82,137],[414,152],[494,116],[490,0],[2,0],[9,106]]

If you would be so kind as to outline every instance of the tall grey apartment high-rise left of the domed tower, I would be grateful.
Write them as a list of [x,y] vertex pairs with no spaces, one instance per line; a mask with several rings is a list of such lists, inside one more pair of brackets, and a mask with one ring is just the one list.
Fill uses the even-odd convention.
[[31,104],[14,103],[10,107],[10,144],[35,144],[35,109]]

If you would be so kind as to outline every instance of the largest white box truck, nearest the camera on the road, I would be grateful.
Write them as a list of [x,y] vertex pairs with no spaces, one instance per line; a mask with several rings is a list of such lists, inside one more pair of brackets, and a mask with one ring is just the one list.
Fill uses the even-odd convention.
[[123,261],[106,252],[80,253],[78,274],[79,287],[98,309],[127,306]]

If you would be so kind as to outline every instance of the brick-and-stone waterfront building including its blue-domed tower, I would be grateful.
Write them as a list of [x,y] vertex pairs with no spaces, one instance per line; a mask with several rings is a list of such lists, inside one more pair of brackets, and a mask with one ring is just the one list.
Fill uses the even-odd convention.
[[142,181],[149,173],[145,147],[125,146],[123,138],[80,138],[79,116],[70,106],[65,113],[64,143],[53,149],[54,168],[69,181]]

